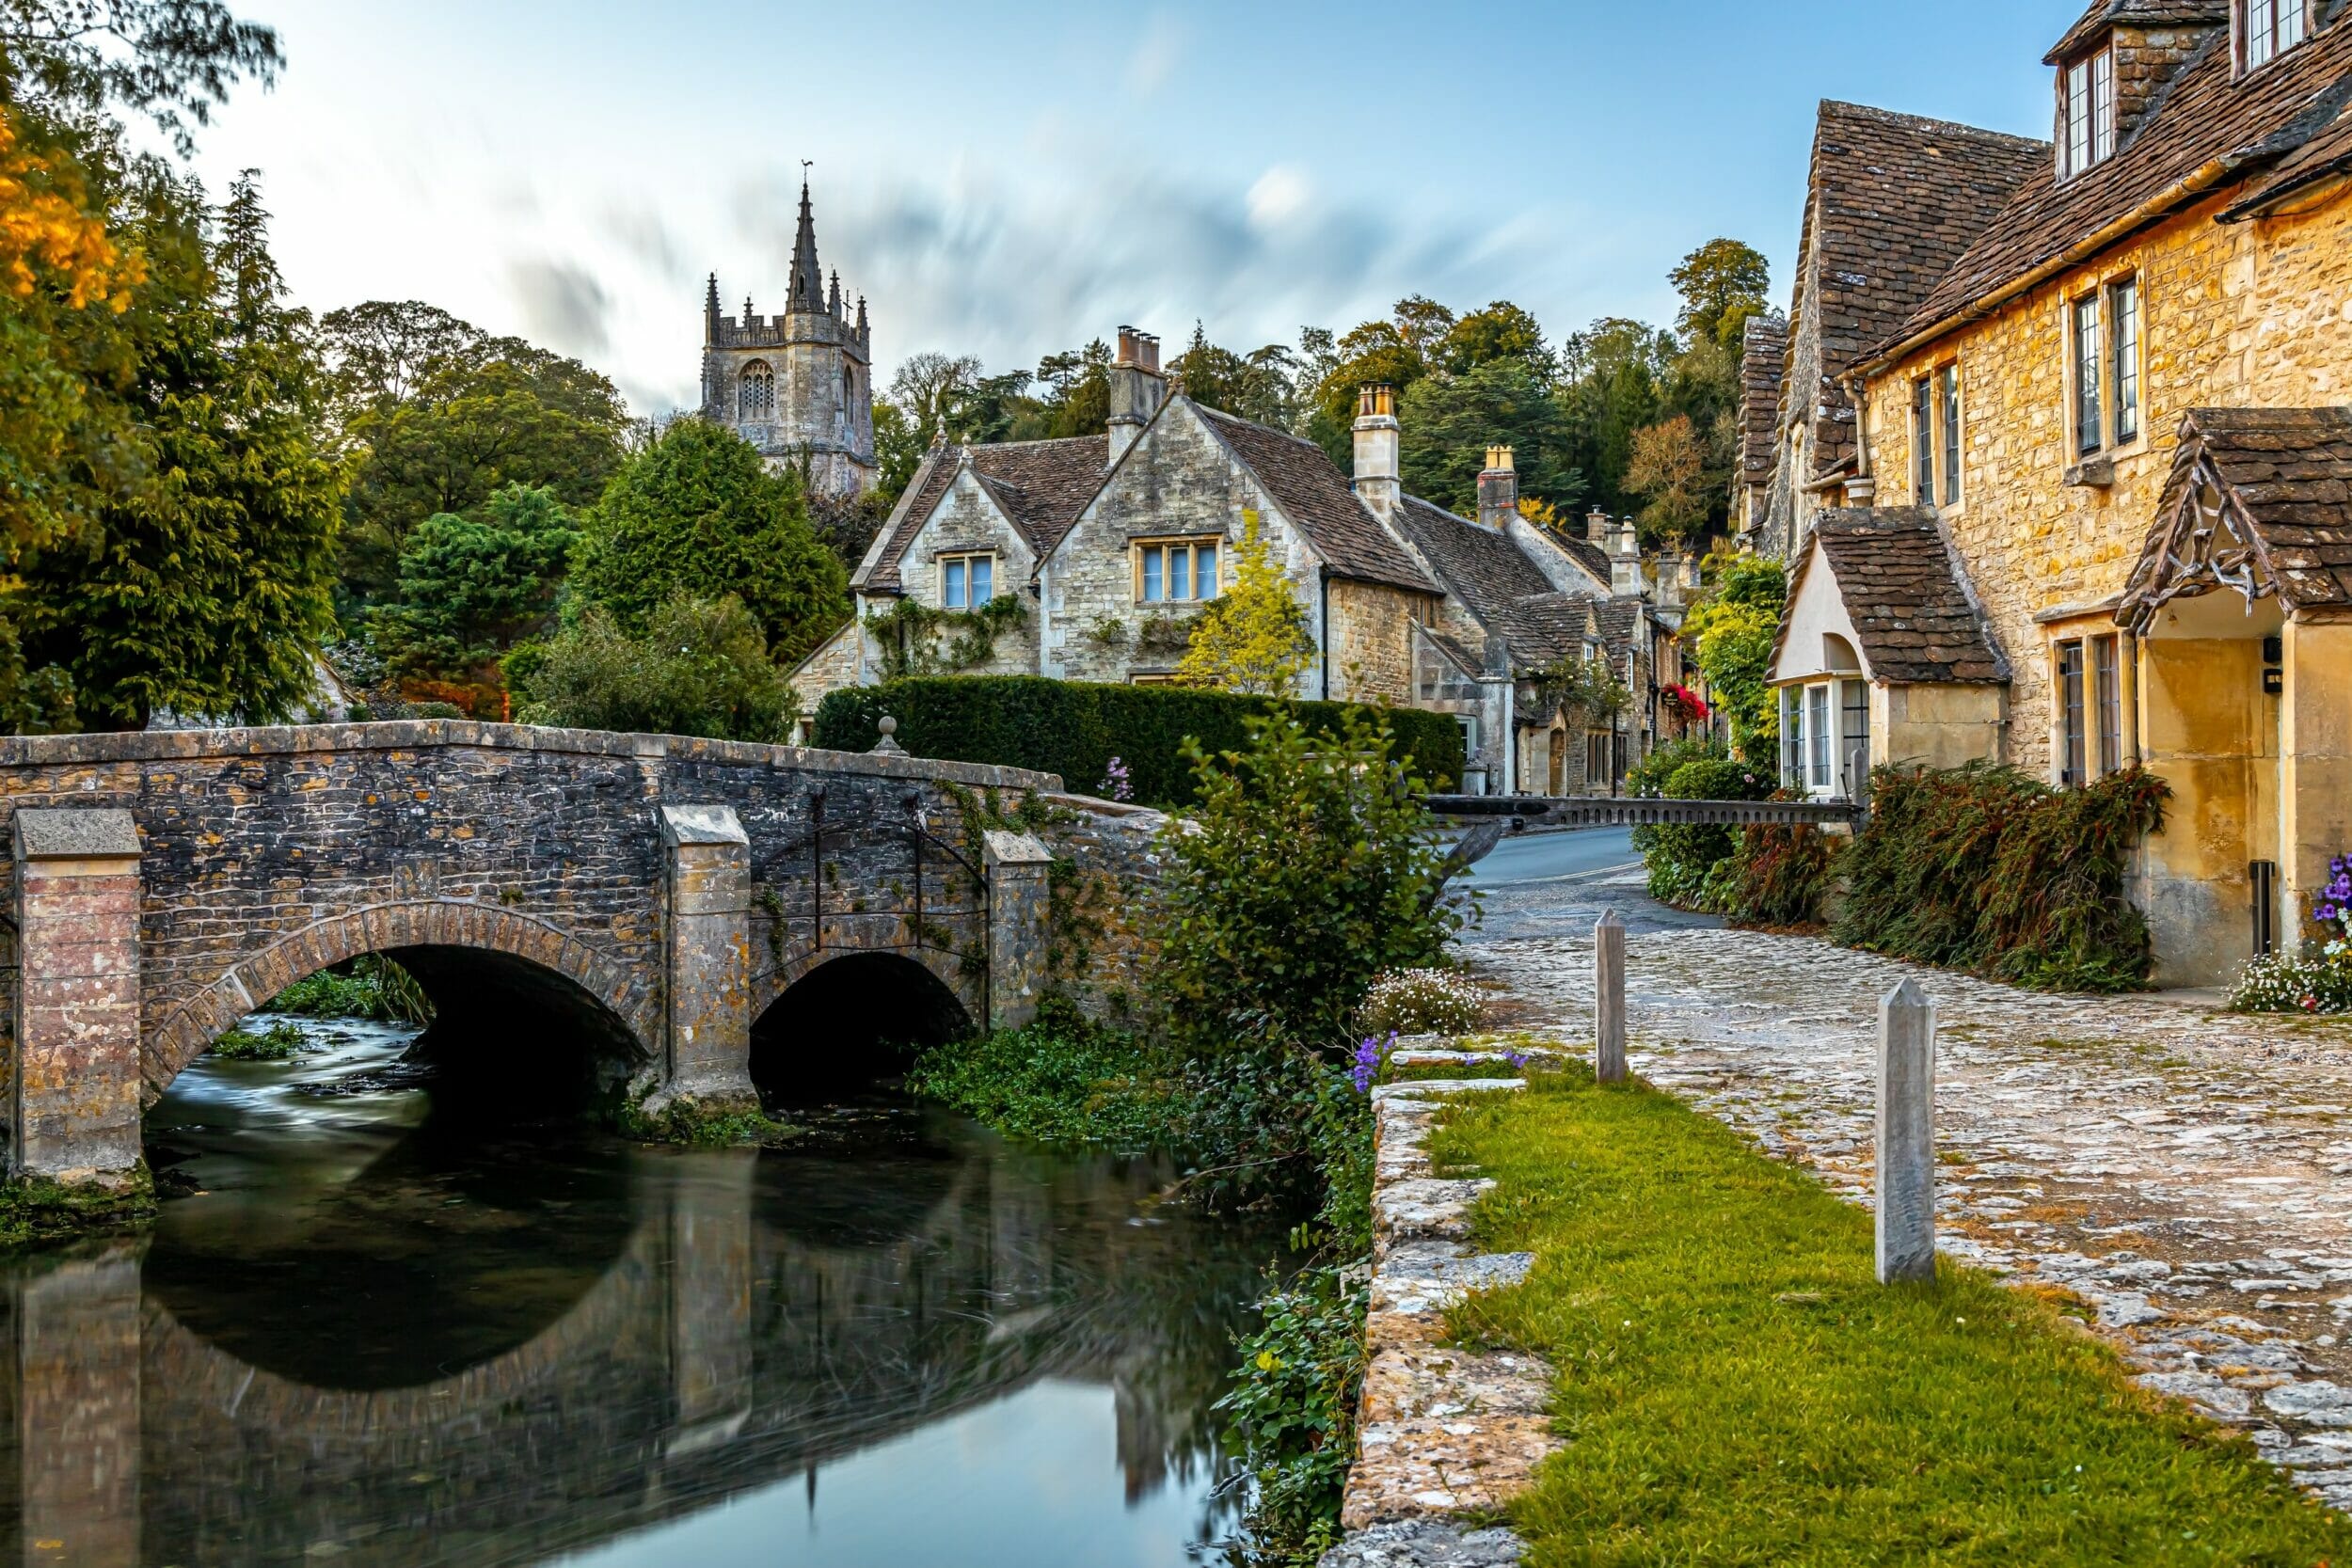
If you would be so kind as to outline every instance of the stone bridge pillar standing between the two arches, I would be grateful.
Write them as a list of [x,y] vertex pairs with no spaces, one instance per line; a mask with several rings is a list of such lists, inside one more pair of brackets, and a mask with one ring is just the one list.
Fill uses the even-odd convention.
[[659,1098],[748,1100],[750,837],[731,806],[663,806],[668,1081]]

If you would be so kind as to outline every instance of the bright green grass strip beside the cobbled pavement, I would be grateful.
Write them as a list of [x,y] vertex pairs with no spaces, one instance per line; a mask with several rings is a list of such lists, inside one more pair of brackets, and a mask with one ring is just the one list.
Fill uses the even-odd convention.
[[1543,1077],[1432,1157],[1494,1175],[1479,1239],[1538,1258],[1454,1314],[1559,1368],[1566,1448],[1512,1507],[1531,1568],[2352,1568],[2352,1523],[2051,1302],[1950,1262],[1877,1286],[1867,1213],[1668,1095]]

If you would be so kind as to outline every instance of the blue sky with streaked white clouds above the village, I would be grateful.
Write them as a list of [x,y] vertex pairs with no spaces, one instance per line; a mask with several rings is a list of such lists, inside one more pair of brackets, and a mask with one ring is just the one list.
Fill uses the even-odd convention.
[[[238,0],[287,71],[198,169],[259,169],[315,310],[423,299],[691,404],[703,277],[767,315],[802,160],[880,378],[1122,324],[1225,348],[1406,294],[1557,339],[1670,324],[1715,235],[1785,306],[1813,106],[2046,136],[2079,0]],[[1174,353],[1174,348],[1171,348]]]

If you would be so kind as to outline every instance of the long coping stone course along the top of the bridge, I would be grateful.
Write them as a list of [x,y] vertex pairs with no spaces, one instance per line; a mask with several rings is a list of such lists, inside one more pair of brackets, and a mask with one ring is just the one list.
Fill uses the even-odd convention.
[[379,724],[270,724],[254,729],[7,736],[0,738],[0,769],[106,762],[205,762],[223,757],[306,757],[322,752],[405,752],[468,745],[499,752],[562,752],[574,757],[628,759],[666,757],[677,762],[769,766],[800,773],[962,783],[983,790],[1061,792],[1061,778],[1056,773],[1000,769],[981,762],[877,757],[873,752],[821,752],[804,745],[699,741],[694,736],[626,736],[595,729],[482,724],[477,719],[393,719]]

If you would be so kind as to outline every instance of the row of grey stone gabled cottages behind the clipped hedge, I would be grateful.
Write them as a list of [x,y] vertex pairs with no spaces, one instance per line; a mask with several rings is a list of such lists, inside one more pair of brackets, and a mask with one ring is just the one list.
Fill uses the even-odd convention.
[[[1183,395],[1136,329],[1120,329],[1103,435],[924,458],[851,576],[856,618],[795,684],[814,703],[908,668],[1167,682],[1249,517],[1312,637],[1298,696],[1456,715],[1465,788],[1606,790],[1661,733],[1689,567],[1665,569],[1661,604],[1630,524],[1602,541],[1529,522],[1501,447],[1477,517],[1406,496],[1385,386],[1362,393],[1345,475],[1315,442]],[[1562,712],[1548,691],[1569,656],[1609,658],[1628,708]]]

